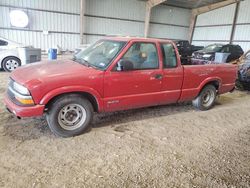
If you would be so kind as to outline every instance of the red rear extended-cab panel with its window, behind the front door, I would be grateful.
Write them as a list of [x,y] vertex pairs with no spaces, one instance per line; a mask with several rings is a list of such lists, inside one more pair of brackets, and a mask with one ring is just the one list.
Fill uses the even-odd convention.
[[171,43],[161,43],[163,79],[161,104],[178,101],[183,83],[183,67],[178,62],[176,50]]

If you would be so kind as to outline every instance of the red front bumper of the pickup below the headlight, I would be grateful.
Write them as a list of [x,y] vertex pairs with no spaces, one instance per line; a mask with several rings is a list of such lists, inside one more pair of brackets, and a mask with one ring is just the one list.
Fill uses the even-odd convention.
[[4,104],[9,112],[15,114],[17,117],[35,117],[42,116],[44,112],[44,105],[34,105],[34,106],[18,106],[14,104],[7,95],[4,97]]

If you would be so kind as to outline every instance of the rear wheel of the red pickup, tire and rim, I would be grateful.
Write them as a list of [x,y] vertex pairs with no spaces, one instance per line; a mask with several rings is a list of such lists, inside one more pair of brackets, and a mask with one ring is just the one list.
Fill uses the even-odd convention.
[[214,105],[216,95],[216,88],[213,85],[207,85],[202,89],[198,97],[192,101],[193,106],[201,111],[209,110]]

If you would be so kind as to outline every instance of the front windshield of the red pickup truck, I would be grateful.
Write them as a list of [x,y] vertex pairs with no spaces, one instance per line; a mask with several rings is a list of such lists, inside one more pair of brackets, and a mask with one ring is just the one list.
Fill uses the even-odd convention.
[[77,53],[74,60],[105,70],[124,45],[122,41],[101,40]]

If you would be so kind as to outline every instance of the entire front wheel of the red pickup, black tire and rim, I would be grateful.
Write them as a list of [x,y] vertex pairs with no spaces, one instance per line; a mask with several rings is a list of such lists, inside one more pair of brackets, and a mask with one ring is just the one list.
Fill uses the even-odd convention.
[[59,97],[49,106],[46,120],[55,135],[72,137],[89,128],[93,113],[93,106],[87,99],[77,94],[68,94]]

